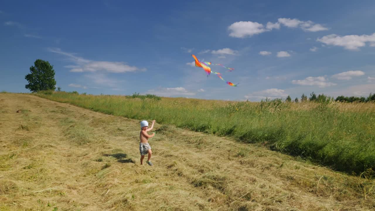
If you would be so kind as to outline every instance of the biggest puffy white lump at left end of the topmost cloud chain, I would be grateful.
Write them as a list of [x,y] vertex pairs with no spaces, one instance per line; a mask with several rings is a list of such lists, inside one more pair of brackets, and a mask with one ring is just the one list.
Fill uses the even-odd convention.
[[231,24],[228,29],[231,31],[229,36],[235,38],[245,38],[246,36],[257,35],[267,30],[264,29],[263,24],[251,21],[240,21]]

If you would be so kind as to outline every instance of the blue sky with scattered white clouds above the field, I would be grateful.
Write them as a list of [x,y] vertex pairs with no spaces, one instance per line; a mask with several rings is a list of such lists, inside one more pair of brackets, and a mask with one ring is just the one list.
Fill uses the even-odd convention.
[[[57,86],[90,94],[260,101],[375,92],[375,2],[3,1],[0,91],[29,92],[49,61]],[[237,87],[192,66],[198,59]]]

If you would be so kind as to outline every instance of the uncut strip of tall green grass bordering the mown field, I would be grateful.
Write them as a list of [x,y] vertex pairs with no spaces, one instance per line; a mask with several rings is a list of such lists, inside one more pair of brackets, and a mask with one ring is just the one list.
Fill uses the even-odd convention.
[[40,94],[58,102],[132,119],[156,119],[194,131],[266,143],[349,173],[375,167],[375,104],[228,102],[185,98]]

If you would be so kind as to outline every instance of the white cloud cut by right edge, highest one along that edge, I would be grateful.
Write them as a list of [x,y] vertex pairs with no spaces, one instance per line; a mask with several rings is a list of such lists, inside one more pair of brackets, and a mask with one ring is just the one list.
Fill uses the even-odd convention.
[[327,35],[322,38],[318,38],[317,41],[323,42],[326,45],[341,46],[348,50],[359,50],[360,47],[366,45],[366,42],[370,42],[371,47],[375,47],[375,33],[372,35]]

